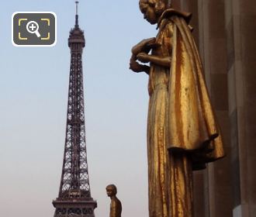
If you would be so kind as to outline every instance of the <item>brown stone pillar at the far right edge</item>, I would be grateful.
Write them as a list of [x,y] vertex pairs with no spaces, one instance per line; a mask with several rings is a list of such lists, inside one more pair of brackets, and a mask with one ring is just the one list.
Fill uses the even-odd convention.
[[256,3],[227,0],[229,115],[233,216],[256,213]]

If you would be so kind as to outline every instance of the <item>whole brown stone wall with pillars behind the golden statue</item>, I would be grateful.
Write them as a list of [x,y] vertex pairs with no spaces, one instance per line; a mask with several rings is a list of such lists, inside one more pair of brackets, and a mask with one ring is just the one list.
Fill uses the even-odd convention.
[[[205,67],[227,157],[194,174],[196,217],[256,213],[256,3],[173,0],[193,12],[195,42]],[[195,9],[197,8],[197,9]]]

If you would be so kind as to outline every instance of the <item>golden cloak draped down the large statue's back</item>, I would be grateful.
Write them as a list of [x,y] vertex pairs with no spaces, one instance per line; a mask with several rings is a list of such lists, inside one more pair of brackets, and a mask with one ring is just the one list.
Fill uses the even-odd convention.
[[193,169],[224,156],[199,52],[188,25],[191,14],[166,10],[161,16],[174,23],[168,84],[168,150],[192,153]]

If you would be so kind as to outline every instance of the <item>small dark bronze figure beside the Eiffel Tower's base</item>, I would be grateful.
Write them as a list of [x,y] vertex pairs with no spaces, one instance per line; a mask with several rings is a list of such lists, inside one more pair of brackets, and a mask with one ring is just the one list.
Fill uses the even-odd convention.
[[106,187],[106,193],[109,196],[109,198],[111,198],[109,217],[121,217],[122,204],[119,201],[119,198],[116,198],[116,185],[109,184]]

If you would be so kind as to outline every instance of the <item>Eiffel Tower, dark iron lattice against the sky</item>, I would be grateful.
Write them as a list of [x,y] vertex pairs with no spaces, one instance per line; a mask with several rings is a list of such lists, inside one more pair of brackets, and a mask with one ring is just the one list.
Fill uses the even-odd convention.
[[82,73],[84,32],[78,25],[78,2],[75,25],[68,38],[71,67],[67,100],[67,128],[64,160],[58,197],[53,201],[54,217],[95,217],[97,202],[91,196],[85,143],[85,109]]

